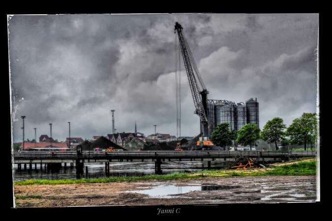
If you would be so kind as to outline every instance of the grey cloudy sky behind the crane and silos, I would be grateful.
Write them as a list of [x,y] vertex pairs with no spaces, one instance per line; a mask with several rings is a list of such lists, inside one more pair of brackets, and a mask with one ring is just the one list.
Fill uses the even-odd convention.
[[[13,141],[112,131],[176,135],[175,22],[209,99],[257,97],[260,128],[316,111],[318,14],[15,15],[8,18]],[[182,64],[183,65],[183,64]],[[181,70],[184,71],[182,66]],[[181,73],[181,135],[199,118]]]

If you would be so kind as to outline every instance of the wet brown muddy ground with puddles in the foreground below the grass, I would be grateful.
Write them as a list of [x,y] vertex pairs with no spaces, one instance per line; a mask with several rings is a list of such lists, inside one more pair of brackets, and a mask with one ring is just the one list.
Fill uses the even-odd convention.
[[[149,196],[139,193],[161,186],[194,188],[180,194]],[[173,186],[173,187],[174,187]],[[188,187],[190,186],[190,187]],[[183,188],[184,189],[184,188]],[[199,190],[197,190],[199,189]],[[130,192],[134,191],[134,192]],[[135,193],[138,192],[138,193]],[[264,176],[204,178],[93,184],[15,186],[16,207],[66,207],[84,205],[175,205],[219,203],[313,202],[316,176]],[[31,195],[40,198],[32,198]]]

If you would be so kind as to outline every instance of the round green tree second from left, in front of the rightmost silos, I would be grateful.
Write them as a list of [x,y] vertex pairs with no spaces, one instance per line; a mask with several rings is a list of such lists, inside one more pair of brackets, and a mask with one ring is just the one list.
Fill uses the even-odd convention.
[[238,138],[236,139],[237,143],[242,145],[250,145],[250,150],[252,146],[257,145],[258,139],[260,138],[259,133],[260,129],[256,124],[246,124],[238,131]]

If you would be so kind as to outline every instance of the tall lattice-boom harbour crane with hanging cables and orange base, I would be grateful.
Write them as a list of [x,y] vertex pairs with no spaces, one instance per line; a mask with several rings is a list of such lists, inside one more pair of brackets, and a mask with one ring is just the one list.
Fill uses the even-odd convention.
[[[199,73],[197,68],[195,59],[190,51],[188,42],[182,32],[182,27],[179,23],[175,23],[174,32],[175,35],[178,35],[179,46],[177,46],[177,41],[175,42],[175,55],[176,55],[176,93],[177,93],[177,115],[178,107],[180,107],[180,117],[178,117],[178,125],[181,125],[181,90],[180,90],[180,72],[181,72],[181,64],[180,64],[180,51],[182,55],[182,60],[184,63],[184,67],[187,73],[189,87],[191,91],[191,95],[194,101],[195,111],[200,118],[200,131],[202,137],[197,143],[198,146],[213,145],[209,138],[209,123],[208,123],[208,110],[207,110],[207,95],[209,91],[204,85],[204,81]],[[179,72],[179,73],[178,73]],[[179,77],[178,77],[179,76]],[[178,80],[179,79],[179,80]],[[178,126],[179,127],[179,126]],[[180,136],[181,136],[181,126],[180,126]]]

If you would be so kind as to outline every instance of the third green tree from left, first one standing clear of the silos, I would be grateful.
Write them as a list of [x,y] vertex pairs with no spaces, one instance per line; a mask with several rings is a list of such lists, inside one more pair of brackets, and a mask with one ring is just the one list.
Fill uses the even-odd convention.
[[265,124],[261,131],[261,138],[269,143],[274,143],[275,150],[278,150],[277,142],[282,142],[285,138],[285,129],[286,125],[284,124],[283,119],[274,117]]

